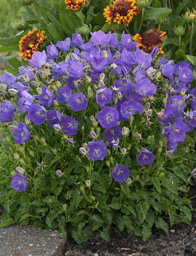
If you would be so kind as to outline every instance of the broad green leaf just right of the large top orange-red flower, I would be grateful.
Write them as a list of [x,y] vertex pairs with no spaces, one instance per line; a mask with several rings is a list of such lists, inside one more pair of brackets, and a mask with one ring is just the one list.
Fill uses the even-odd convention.
[[160,18],[164,18],[166,15],[171,14],[171,9],[166,7],[161,8],[150,8],[144,12],[144,20],[158,20]]

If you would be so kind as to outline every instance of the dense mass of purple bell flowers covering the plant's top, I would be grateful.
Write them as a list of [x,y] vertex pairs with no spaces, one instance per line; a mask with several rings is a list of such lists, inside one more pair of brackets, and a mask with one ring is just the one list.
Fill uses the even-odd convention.
[[[152,165],[157,153],[147,138],[142,141],[137,126],[143,124],[141,132],[146,133],[154,123],[159,125],[162,134],[152,135],[166,139],[165,150],[172,152],[196,128],[192,66],[185,61],[175,64],[165,57],[155,60],[155,51],[142,52],[126,34],[120,42],[113,33],[98,31],[91,36],[84,43],[74,34],[72,40],[67,38],[49,45],[46,52],[35,52],[30,66],[20,67],[17,76],[2,74],[1,88],[12,98],[5,96],[1,101],[0,123],[9,123],[15,144],[33,136],[33,124],[49,125],[65,136],[66,147],[82,148],[80,152],[89,160],[110,160],[120,152],[122,157],[114,157],[110,166],[113,179],[125,182],[129,169],[119,163],[127,154],[126,147],[131,148],[131,139],[138,140],[138,148],[128,153],[138,167]],[[156,105],[158,98],[161,104]],[[13,120],[17,124],[12,125]],[[137,132],[135,137],[132,130]],[[12,187],[23,191],[27,182],[19,175],[12,178]]]

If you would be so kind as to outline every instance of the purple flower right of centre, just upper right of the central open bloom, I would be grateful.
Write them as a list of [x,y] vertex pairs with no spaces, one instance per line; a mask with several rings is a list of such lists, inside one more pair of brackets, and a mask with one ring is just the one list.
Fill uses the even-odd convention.
[[121,104],[121,115],[126,119],[131,118],[136,112],[142,114],[143,111],[144,107],[137,101],[125,101]]

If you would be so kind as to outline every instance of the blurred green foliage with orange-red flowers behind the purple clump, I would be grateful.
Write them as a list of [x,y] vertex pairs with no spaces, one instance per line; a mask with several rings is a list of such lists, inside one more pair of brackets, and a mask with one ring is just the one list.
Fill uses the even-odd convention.
[[[33,28],[46,32],[47,39],[40,50],[49,42],[55,44],[71,37],[75,31],[86,40],[90,31],[102,29],[118,36],[126,31],[136,35],[142,50],[149,51],[157,45],[167,58],[188,60],[196,65],[194,0],[81,0],[78,4],[70,4],[68,0],[12,0],[5,4],[5,0],[0,1],[4,24],[0,31],[0,53],[7,54],[0,61],[9,61],[6,69],[14,74],[21,65],[15,51],[21,37]],[[10,23],[7,17],[11,15]]]

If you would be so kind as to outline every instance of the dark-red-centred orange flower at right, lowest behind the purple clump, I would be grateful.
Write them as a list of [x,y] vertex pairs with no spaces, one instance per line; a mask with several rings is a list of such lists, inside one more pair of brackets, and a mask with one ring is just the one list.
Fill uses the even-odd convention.
[[163,54],[162,43],[167,38],[165,31],[160,31],[159,29],[146,31],[143,36],[136,34],[133,39],[137,46],[141,48],[145,53],[151,53],[154,47],[159,47],[158,53]]

